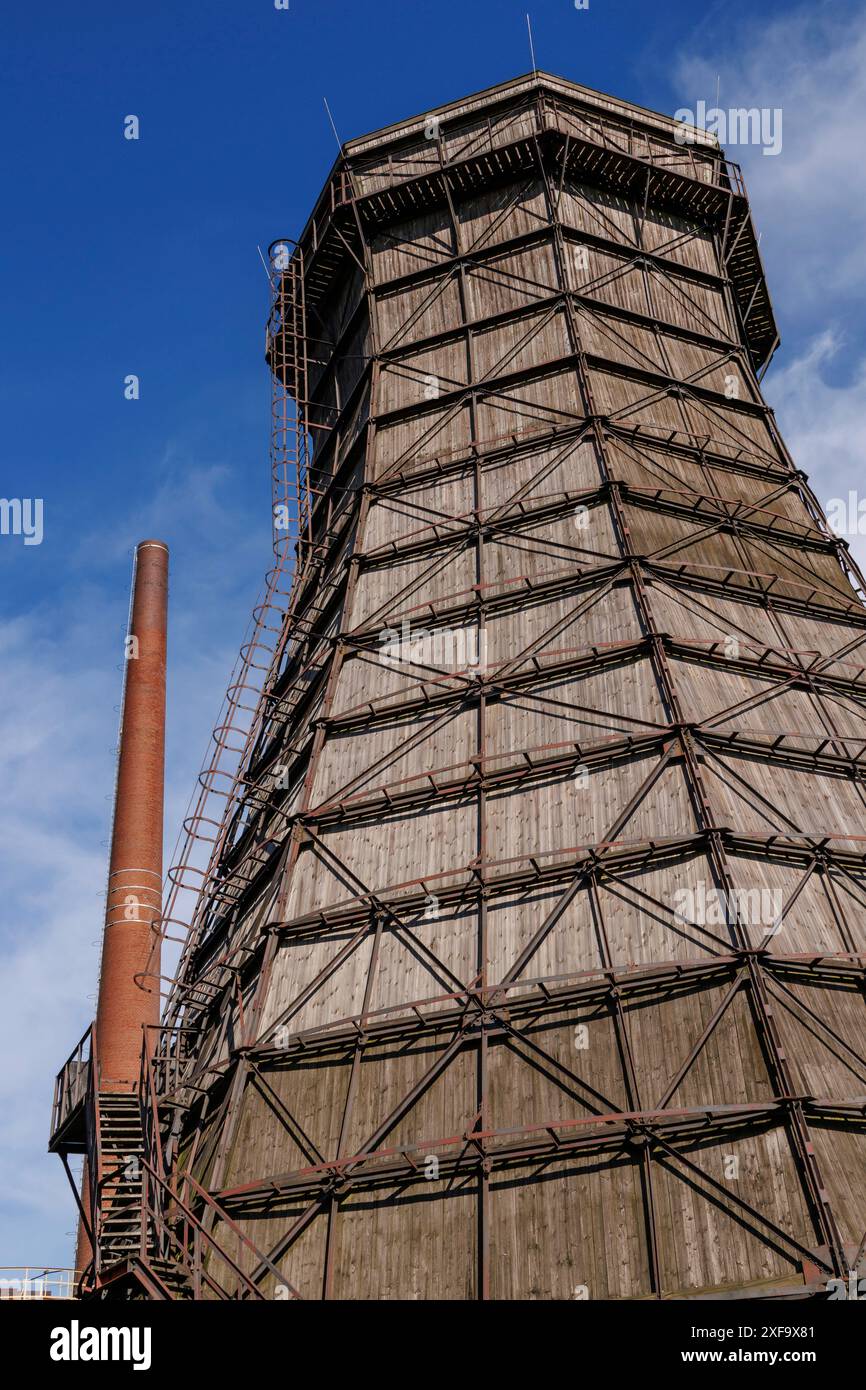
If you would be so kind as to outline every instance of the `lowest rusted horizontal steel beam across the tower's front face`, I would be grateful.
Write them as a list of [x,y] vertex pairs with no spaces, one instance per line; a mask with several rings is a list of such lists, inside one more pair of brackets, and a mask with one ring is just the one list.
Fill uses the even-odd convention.
[[[457,1041],[461,1045],[473,1045],[474,1042],[466,1037]],[[411,1161],[411,1156],[414,1154],[427,1156],[431,1151],[442,1148],[457,1151],[450,1159],[448,1156],[439,1159],[441,1170],[445,1169],[446,1175],[450,1176],[459,1169],[464,1169],[467,1162],[474,1166],[481,1161],[480,1140],[492,1143],[487,1156],[496,1168],[509,1166],[516,1161],[537,1162],[541,1158],[559,1161],[582,1148],[621,1154],[635,1136],[642,1134],[652,1136],[653,1143],[669,1134],[680,1143],[691,1144],[695,1140],[706,1141],[708,1137],[723,1138],[733,1129],[749,1133],[756,1123],[766,1125],[774,1120],[776,1125],[780,1125],[785,1109],[794,1104],[796,1104],[795,1098],[783,1097],[740,1105],[703,1105],[662,1112],[612,1111],[610,1115],[589,1115],[567,1120],[550,1119],[541,1123],[509,1126],[507,1129],[461,1130],[457,1134],[423,1138],[417,1144],[399,1144],[379,1150],[371,1150],[366,1145],[359,1154],[341,1159],[339,1163],[334,1161],[320,1166],[268,1175],[252,1183],[220,1190],[215,1193],[215,1198],[232,1207],[246,1205],[257,1200],[271,1201],[278,1195],[292,1198],[302,1191],[316,1191],[322,1184],[329,1190],[335,1180],[357,1188],[375,1186],[381,1182],[391,1183],[396,1173],[411,1182],[418,1182],[418,1165]],[[386,1123],[388,1127],[393,1127],[396,1120],[389,1118]],[[534,1138],[534,1136],[539,1136],[539,1138]],[[674,1150],[674,1154],[681,1158],[678,1150]],[[364,1165],[374,1166],[366,1168]],[[702,1170],[698,1169],[698,1172]],[[702,1176],[706,1177],[705,1173]],[[423,1176],[420,1180],[424,1180]],[[275,1257],[271,1255],[271,1258]]]

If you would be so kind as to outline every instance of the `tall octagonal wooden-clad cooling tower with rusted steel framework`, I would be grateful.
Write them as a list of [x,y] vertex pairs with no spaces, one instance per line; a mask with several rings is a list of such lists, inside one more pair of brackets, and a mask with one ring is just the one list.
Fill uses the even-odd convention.
[[147,1101],[204,1297],[862,1254],[862,580],[683,135],[534,74],[350,142],[271,247],[292,588]]

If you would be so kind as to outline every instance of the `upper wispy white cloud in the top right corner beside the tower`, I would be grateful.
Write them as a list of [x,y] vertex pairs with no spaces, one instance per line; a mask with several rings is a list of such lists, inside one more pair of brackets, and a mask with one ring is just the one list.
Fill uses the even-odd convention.
[[770,22],[758,13],[705,42],[706,56],[684,53],[676,67],[678,103],[714,106],[719,75],[723,110],[783,110],[780,154],[727,150],[744,168],[774,299],[794,318],[826,314],[837,296],[847,310],[866,297],[866,11],[808,4]]

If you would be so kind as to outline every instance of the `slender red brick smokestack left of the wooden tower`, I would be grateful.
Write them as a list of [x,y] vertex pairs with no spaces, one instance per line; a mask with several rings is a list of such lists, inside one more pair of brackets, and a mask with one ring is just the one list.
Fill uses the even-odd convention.
[[[142,541],[135,552],[126,638],[124,714],[117,769],[108,898],[96,1008],[100,1091],[133,1091],[142,1027],[160,1022],[163,792],[165,777],[165,634],[168,548]],[[89,1190],[82,1182],[82,1200]],[[79,1229],[76,1266],[92,1257]]]

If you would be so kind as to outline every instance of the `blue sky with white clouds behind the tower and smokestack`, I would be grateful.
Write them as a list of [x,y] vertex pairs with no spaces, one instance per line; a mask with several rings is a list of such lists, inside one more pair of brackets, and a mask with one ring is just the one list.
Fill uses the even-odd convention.
[[[268,563],[267,281],[343,139],[538,65],[673,114],[781,107],[745,171],[783,348],[766,378],[827,502],[866,421],[866,13],[848,0],[149,0],[7,7],[0,495],[0,1265],[71,1258],[44,1152],[93,1015],[132,545],[172,552],[167,841]],[[140,139],[124,139],[124,118]],[[124,378],[140,399],[124,399]],[[862,538],[852,538],[863,563]]]

